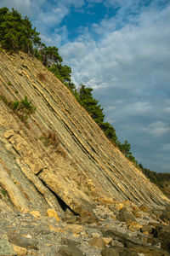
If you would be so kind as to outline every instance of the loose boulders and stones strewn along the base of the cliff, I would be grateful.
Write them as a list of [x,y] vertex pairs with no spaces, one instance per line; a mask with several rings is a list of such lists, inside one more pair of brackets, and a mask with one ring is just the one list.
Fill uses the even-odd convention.
[[[48,212],[54,215],[49,217]],[[46,215],[2,210],[0,255],[170,255],[170,207],[139,207],[124,201],[98,206],[94,215],[90,221],[69,211],[59,219],[53,209]]]

